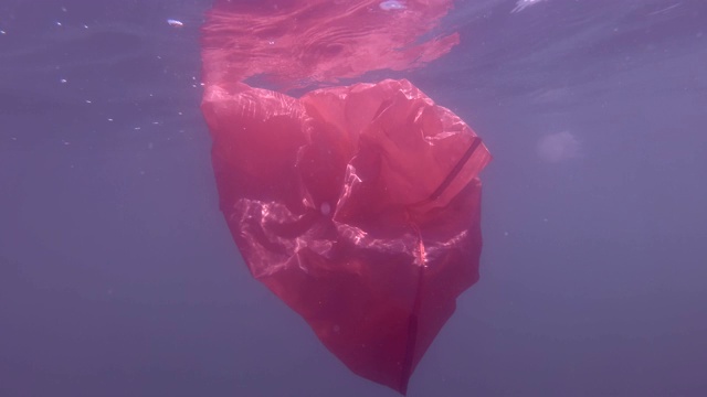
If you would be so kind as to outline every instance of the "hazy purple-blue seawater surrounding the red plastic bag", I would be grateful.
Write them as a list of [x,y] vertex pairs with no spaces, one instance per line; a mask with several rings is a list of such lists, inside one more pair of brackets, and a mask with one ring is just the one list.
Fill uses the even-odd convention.
[[[395,395],[231,240],[209,6],[0,0],[0,396]],[[707,3],[456,6],[462,44],[395,76],[495,157],[482,279],[409,396],[706,396]]]

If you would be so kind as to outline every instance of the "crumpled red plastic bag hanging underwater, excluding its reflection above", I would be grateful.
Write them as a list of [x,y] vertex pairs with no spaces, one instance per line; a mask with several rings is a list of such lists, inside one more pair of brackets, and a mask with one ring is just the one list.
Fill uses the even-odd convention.
[[251,272],[356,374],[405,393],[478,279],[490,157],[408,81],[205,87],[223,211]]

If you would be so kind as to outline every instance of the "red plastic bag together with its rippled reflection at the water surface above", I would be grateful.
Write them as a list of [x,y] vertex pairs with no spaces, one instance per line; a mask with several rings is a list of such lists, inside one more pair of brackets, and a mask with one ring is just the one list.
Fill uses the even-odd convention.
[[478,279],[478,172],[490,157],[408,81],[456,33],[451,0],[215,0],[202,109],[221,210],[245,262],[351,371],[405,393]]

